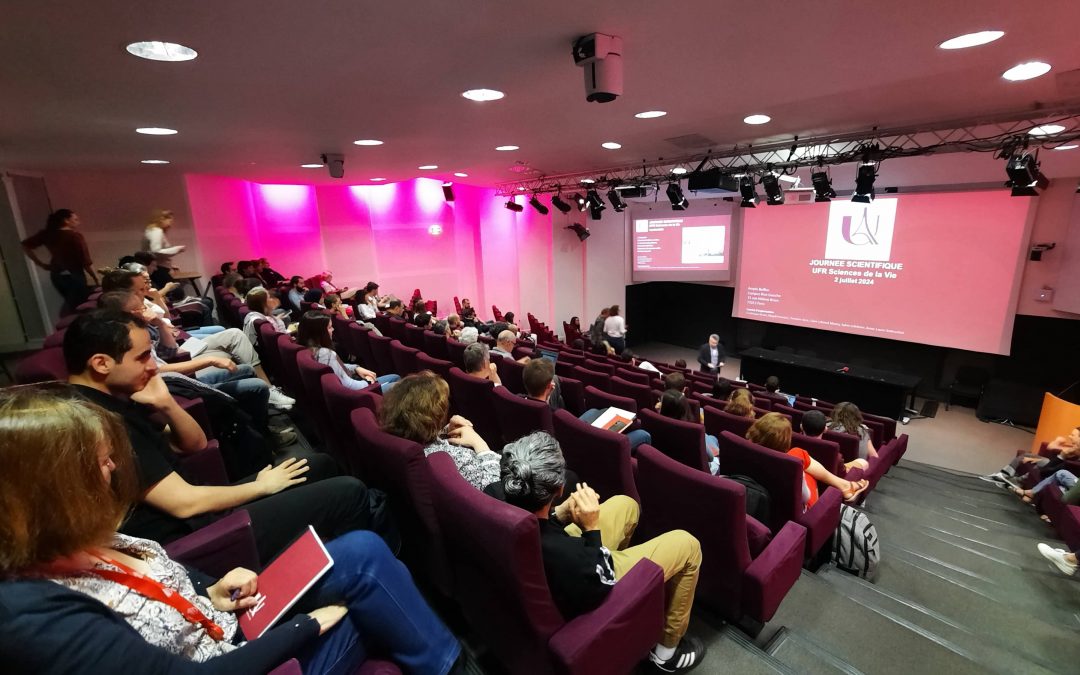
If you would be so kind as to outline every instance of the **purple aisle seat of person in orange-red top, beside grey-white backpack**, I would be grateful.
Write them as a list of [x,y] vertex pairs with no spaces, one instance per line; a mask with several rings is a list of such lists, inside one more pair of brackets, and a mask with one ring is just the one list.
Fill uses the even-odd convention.
[[765,525],[775,535],[788,522],[807,529],[806,557],[813,558],[836,531],[840,522],[843,496],[834,487],[826,488],[816,503],[802,511],[802,462],[787,455],[751,443],[725,431],[719,436],[720,471],[746,475],[769,492],[769,522]]

